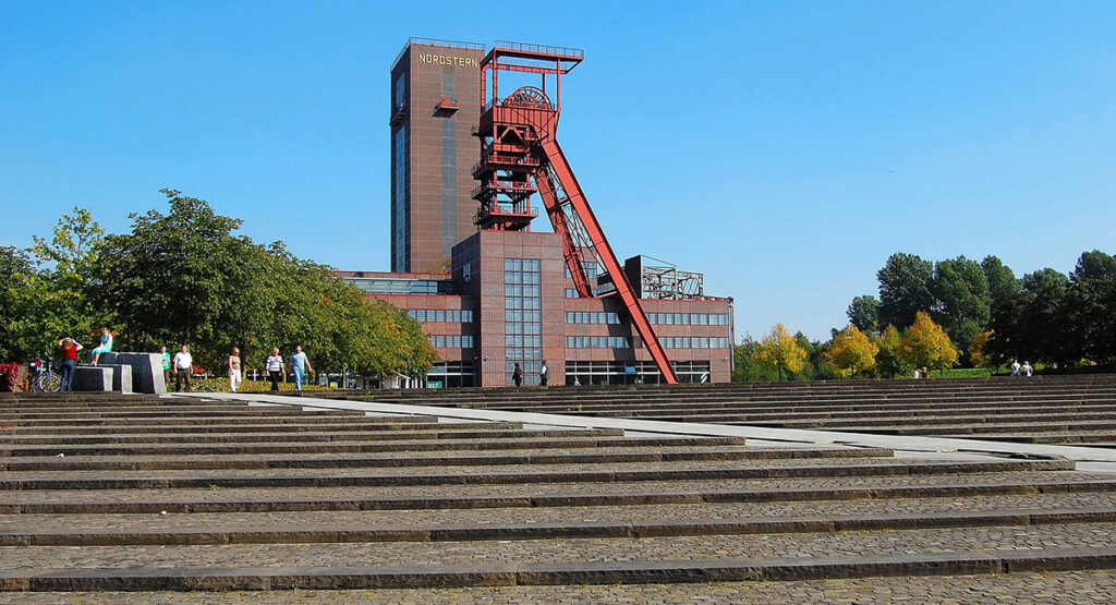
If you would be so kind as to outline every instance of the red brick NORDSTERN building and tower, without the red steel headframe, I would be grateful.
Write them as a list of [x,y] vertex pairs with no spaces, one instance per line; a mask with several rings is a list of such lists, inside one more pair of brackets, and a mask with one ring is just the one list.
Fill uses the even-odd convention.
[[[510,385],[517,363],[525,384],[538,384],[543,361],[550,384],[660,382],[624,306],[614,297],[578,297],[557,234],[479,231],[473,223],[483,49],[412,39],[396,58],[393,272],[338,275],[423,324],[442,359],[424,381],[431,387]],[[732,300],[705,296],[699,273],[647,267],[641,258],[624,272],[679,380],[728,382]],[[589,277],[596,286],[595,272]]]

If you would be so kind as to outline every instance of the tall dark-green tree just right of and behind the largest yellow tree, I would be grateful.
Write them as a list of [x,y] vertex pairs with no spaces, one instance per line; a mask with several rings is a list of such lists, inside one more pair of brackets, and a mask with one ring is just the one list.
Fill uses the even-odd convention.
[[935,315],[962,349],[977,338],[991,317],[992,296],[984,270],[961,256],[934,267]]

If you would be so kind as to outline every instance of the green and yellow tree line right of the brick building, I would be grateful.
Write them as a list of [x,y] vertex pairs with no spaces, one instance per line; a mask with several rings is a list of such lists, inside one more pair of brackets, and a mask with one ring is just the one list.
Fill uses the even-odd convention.
[[826,343],[781,324],[737,347],[733,380],[896,376],[913,368],[1116,364],[1116,256],[1083,252],[1069,273],[1045,268],[1017,278],[994,256],[931,262],[892,255],[876,273],[879,296],[857,296],[849,325]]

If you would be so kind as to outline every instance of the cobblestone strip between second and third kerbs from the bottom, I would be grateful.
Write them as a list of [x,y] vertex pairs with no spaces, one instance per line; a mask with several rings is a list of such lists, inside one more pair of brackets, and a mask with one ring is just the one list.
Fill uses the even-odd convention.
[[529,524],[575,521],[684,521],[747,517],[908,515],[1006,510],[1083,510],[1116,507],[1116,493],[1056,493],[904,500],[728,502],[668,506],[531,507],[450,510],[220,512],[169,515],[0,515],[0,530],[394,526],[425,524]]

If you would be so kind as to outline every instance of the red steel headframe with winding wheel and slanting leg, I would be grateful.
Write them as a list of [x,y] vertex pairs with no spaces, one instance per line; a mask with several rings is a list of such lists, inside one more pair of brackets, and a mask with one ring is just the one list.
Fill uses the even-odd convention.
[[[570,48],[498,41],[481,61],[481,121],[477,132],[481,161],[473,166],[473,176],[481,182],[473,198],[481,208],[474,222],[481,229],[529,229],[536,214],[529,200],[538,192],[555,233],[562,239],[566,266],[578,295],[594,296],[586,263],[595,260],[613,286],[597,296],[619,297],[664,381],[677,384],[666,352],[556,137],[561,76],[583,58],[580,50]],[[502,70],[537,74],[541,87],[525,86],[500,98],[498,78]],[[554,76],[554,103],[547,95],[548,76]]]

